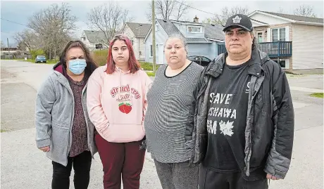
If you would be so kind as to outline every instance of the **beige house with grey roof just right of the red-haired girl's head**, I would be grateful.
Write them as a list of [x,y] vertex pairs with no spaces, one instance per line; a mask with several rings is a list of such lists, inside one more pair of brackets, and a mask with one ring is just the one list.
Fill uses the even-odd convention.
[[150,28],[151,24],[126,22],[123,34],[132,41],[132,47],[137,60],[145,60],[145,44],[143,41]]

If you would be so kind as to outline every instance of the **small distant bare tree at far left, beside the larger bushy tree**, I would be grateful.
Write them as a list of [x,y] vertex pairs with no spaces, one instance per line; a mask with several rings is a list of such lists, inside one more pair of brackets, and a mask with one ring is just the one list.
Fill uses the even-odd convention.
[[23,32],[16,32],[13,39],[15,39],[20,46],[23,44],[27,47],[28,51],[32,51],[32,48],[36,48],[37,45],[37,37],[32,30],[25,29]]

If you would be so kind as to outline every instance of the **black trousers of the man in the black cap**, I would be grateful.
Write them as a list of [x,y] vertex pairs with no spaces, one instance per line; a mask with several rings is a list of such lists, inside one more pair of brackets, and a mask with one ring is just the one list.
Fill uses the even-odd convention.
[[268,189],[267,178],[246,181],[242,172],[218,173],[200,164],[199,189]]

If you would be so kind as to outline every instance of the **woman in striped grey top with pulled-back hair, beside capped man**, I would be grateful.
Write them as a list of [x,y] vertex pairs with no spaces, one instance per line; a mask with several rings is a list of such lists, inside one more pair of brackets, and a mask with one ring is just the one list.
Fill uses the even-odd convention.
[[164,53],[168,64],[158,68],[147,93],[147,148],[163,189],[197,189],[199,167],[189,166],[185,126],[203,67],[187,60],[185,40],[178,35],[166,40]]

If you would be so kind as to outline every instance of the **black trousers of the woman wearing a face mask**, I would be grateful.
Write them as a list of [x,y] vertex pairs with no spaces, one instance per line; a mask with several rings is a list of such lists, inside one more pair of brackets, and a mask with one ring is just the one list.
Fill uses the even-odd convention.
[[90,167],[92,162],[91,152],[85,151],[75,157],[68,157],[68,165],[52,162],[53,180],[52,189],[68,189],[70,187],[70,174],[72,166],[74,169],[75,189],[87,189],[90,181]]

